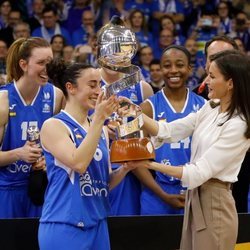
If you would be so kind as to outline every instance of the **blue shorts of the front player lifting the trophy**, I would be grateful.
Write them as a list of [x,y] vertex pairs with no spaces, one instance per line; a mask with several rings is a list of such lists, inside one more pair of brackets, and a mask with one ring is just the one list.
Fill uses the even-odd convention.
[[62,223],[40,223],[40,250],[110,250],[107,220],[82,229]]

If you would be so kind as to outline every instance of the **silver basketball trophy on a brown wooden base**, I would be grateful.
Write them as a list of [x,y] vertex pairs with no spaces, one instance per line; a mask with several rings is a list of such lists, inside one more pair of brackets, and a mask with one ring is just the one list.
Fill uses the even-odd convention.
[[[135,34],[125,27],[123,21],[114,16],[111,21],[101,28],[97,36],[98,63],[110,70],[122,72],[124,77],[118,81],[104,86],[107,97],[118,94],[120,91],[130,88],[141,80],[140,68],[131,64],[131,59],[137,51]],[[117,123],[116,140],[111,144],[111,162],[125,162],[131,160],[154,159],[155,153],[149,138],[143,138],[140,130],[143,119],[139,107],[130,105],[132,121]],[[111,122],[115,122],[112,119]]]

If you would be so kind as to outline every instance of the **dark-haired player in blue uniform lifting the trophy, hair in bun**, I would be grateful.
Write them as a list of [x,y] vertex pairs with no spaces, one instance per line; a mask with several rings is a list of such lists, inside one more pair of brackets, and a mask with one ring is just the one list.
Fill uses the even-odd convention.
[[[111,173],[103,127],[119,107],[118,100],[104,97],[100,72],[90,65],[52,61],[47,72],[63,90],[66,106],[41,130],[48,187],[39,226],[40,249],[110,249],[109,189],[129,171],[120,166]],[[90,109],[95,109],[93,119],[88,116]]]

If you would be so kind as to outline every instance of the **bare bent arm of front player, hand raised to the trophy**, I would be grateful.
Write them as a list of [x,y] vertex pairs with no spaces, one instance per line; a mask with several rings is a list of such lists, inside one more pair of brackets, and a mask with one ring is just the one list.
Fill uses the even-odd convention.
[[76,172],[84,173],[96,151],[103,123],[117,107],[114,99],[112,96],[104,100],[103,93],[99,95],[88,133],[78,148],[70,139],[67,128],[59,120],[54,118],[47,120],[41,130],[44,148],[64,165]]

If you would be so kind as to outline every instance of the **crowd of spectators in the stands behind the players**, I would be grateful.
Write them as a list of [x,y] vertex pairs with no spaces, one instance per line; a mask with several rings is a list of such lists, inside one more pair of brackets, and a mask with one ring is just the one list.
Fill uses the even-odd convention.
[[0,81],[5,81],[8,47],[20,37],[43,37],[51,43],[54,57],[97,66],[96,32],[118,15],[136,34],[139,49],[133,63],[141,67],[147,82],[154,81],[151,61],[159,60],[167,46],[183,45],[192,55],[193,71],[187,84],[193,89],[205,74],[205,43],[215,35],[234,38],[249,53],[249,10],[248,1],[230,0],[1,1]]

